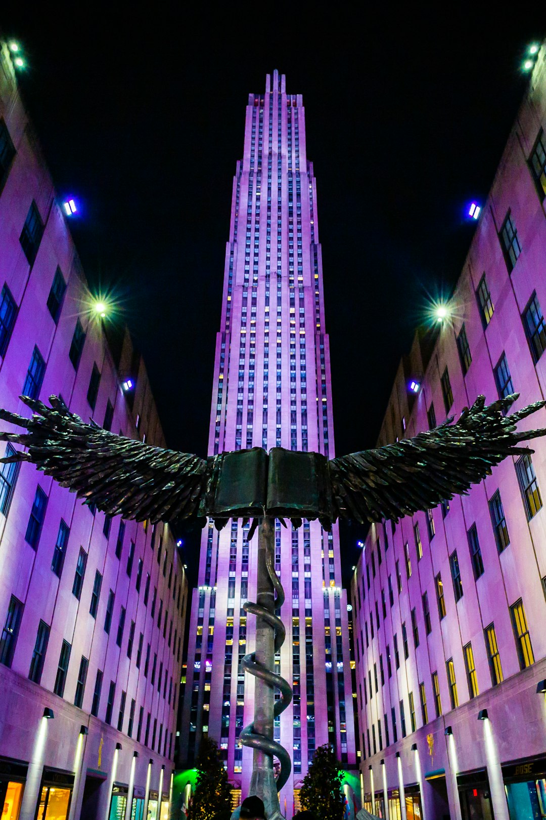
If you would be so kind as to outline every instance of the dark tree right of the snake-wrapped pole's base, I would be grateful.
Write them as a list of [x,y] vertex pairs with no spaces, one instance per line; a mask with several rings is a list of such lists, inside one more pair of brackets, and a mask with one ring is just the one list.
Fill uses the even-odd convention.
[[343,820],[342,780],[341,766],[331,746],[319,746],[301,786],[301,805],[316,814],[318,820]]

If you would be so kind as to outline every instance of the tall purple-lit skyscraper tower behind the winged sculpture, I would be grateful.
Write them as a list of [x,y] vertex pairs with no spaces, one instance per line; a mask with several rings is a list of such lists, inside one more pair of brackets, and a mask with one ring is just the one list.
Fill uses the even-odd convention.
[[[317,187],[307,159],[305,110],[285,77],[250,94],[245,147],[233,180],[232,214],[216,344],[209,453],[254,446],[334,455],[330,356],[324,320]],[[235,790],[248,793],[252,751],[238,743],[253,719],[254,682],[240,669],[254,647],[257,540],[247,526],[212,524],[201,541],[194,590],[181,736],[187,759],[201,738],[217,740]],[[337,527],[276,525],[276,568],[287,594],[287,640],[278,671],[294,701],[274,735],[289,749],[293,777],[280,795],[288,816],[314,749],[332,743],[354,765],[347,600]]]

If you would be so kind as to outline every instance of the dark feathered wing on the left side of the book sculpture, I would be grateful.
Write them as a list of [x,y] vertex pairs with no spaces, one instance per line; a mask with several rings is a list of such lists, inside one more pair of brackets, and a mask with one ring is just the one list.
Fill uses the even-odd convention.
[[61,399],[51,407],[20,397],[32,418],[0,410],[0,418],[26,428],[2,433],[0,440],[22,444],[26,452],[0,462],[29,461],[107,515],[151,522],[196,516],[205,492],[203,458],[143,444],[85,424]]

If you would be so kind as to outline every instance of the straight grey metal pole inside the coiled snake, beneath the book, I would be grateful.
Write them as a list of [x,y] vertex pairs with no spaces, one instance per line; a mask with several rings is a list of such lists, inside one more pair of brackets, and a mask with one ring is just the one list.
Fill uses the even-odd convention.
[[[256,604],[269,613],[275,612],[275,590],[269,577],[266,556],[275,551],[275,530],[270,518],[261,518],[258,528],[258,569]],[[263,618],[256,619],[256,661],[274,672],[275,631]],[[255,678],[254,689],[254,731],[273,740],[273,708],[275,705],[273,686],[267,681]],[[265,813],[270,820],[281,818],[278,803],[277,784],[273,777],[273,756],[262,749],[254,750],[250,795],[257,795],[264,801]]]

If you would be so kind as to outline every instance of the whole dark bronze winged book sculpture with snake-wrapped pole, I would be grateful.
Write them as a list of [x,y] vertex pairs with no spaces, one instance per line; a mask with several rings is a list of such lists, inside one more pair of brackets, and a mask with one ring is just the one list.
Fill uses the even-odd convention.
[[[284,593],[274,569],[272,521],[318,519],[326,529],[341,518],[379,522],[435,507],[453,494],[490,475],[510,455],[532,452],[522,441],[546,435],[546,429],[517,430],[517,422],[544,408],[539,401],[508,415],[518,398],[512,394],[485,406],[478,396],[458,421],[453,417],[412,439],[328,461],[320,453],[253,448],[199,458],[115,435],[86,424],[56,396],[51,407],[21,396],[33,411],[29,419],[0,410],[0,418],[25,432],[6,432],[0,440],[25,451],[0,462],[28,461],[107,515],[151,522],[214,519],[221,528],[230,517],[252,519],[248,538],[259,524],[256,603],[256,650],[243,667],[256,677],[255,719],[240,740],[255,750],[250,793],[262,796],[268,818],[278,820],[277,792],[291,771],[286,749],[273,740],[273,717],[291,701],[291,686],[273,672],[274,654],[284,641],[275,614]],[[275,597],[277,595],[277,597]],[[274,702],[273,687],[281,690]],[[273,755],[281,763],[273,777]]]

